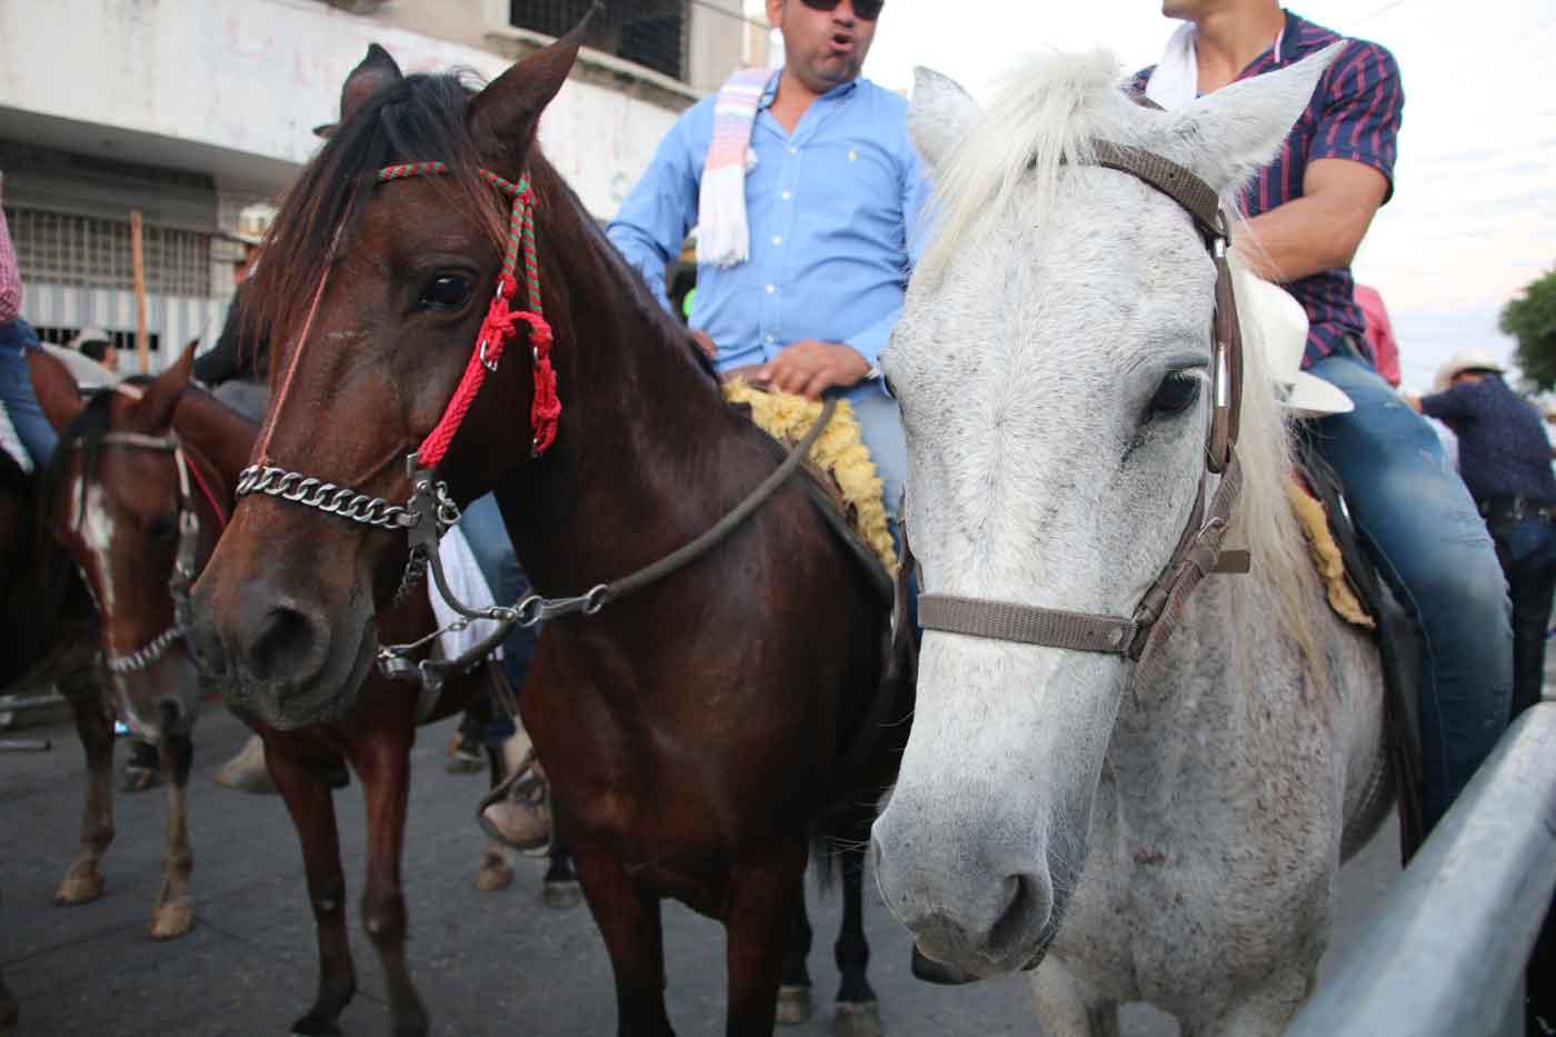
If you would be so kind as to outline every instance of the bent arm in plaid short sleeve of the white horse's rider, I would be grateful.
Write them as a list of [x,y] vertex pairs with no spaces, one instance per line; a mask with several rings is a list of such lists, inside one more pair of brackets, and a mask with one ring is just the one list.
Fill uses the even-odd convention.
[[1307,154],[1302,195],[1234,230],[1254,271],[1282,283],[1351,266],[1372,216],[1393,193],[1405,103],[1394,58],[1376,44],[1352,44],[1319,89],[1327,100]]

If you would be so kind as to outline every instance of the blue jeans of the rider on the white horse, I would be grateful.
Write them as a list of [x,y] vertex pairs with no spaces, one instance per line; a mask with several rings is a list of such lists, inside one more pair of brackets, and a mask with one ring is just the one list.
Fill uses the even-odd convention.
[[1438,822],[1508,726],[1512,629],[1491,534],[1432,427],[1366,363],[1309,374],[1355,411],[1318,422],[1357,528],[1422,634],[1422,817]]

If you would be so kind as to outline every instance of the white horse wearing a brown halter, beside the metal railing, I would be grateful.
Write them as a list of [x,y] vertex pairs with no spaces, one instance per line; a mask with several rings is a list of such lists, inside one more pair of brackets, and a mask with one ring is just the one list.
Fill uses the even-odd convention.
[[[1134,104],[1108,54],[1041,61],[987,112],[920,73],[938,229],[882,364],[926,593],[1131,615],[1206,476],[1215,272],[1186,210],[1092,146],[1170,159],[1228,206],[1333,56],[1172,114]],[[1379,657],[1324,604],[1256,341],[1243,395],[1228,545],[1253,573],[1200,584],[1150,679],[924,635],[881,891],[963,973],[1041,961],[1049,1037],[1116,1034],[1141,1000],[1193,1035],[1279,1032],[1315,981],[1343,831],[1380,819]]]

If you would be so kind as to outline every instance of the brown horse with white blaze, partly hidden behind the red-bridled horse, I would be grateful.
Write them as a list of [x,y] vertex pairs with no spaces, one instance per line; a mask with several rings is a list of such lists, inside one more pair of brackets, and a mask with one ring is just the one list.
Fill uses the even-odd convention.
[[[193,704],[171,702],[168,690],[193,687],[198,673],[177,634],[165,637],[179,631],[170,576],[180,540],[188,536],[185,515],[198,518],[193,545],[198,568],[210,557],[226,523],[238,470],[257,433],[252,422],[188,386],[191,355],[187,352],[152,381],[93,394],[65,427],[53,466],[56,495],[50,528],[92,581],[109,654],[131,659],[140,652],[143,665],[115,673],[115,685],[131,726],[154,740],[171,735],[170,721],[177,721],[187,738],[188,721],[182,718],[193,716]],[[187,476],[180,478],[179,466]],[[73,511],[72,500],[79,500],[84,509]],[[76,522],[82,512],[86,520]],[[426,595],[409,595],[381,623],[386,637],[428,632],[434,623]],[[160,649],[149,648],[163,642]],[[465,707],[487,707],[492,682],[503,679],[499,666],[481,663],[450,674],[436,701],[419,702],[408,685],[372,673],[358,708],[341,722],[297,730],[255,724],[265,738],[271,777],[302,842],[319,931],[319,995],[294,1026],[296,1032],[338,1032],[336,1018],[356,986],[345,937],[345,880],[335,803],[324,780],[324,771],[342,755],[361,777],[367,805],[363,919],[389,979],[395,1032],[426,1032],[426,1012],[405,958],[406,909],[400,891],[411,746],[417,722]],[[148,701],[157,705],[137,707]],[[501,754],[492,754],[493,783],[501,766]],[[187,867],[182,878],[187,881]],[[476,884],[498,889],[509,881],[512,870],[504,855],[489,847]]]

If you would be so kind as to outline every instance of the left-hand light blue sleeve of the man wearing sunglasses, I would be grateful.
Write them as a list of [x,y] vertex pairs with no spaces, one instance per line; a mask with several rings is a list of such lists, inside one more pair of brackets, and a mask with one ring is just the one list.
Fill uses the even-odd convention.
[[713,134],[711,118],[708,103],[682,114],[616,218],[605,224],[605,237],[643,274],[666,311],[671,301],[664,291],[664,266],[680,255],[686,234],[697,224],[697,193]]

